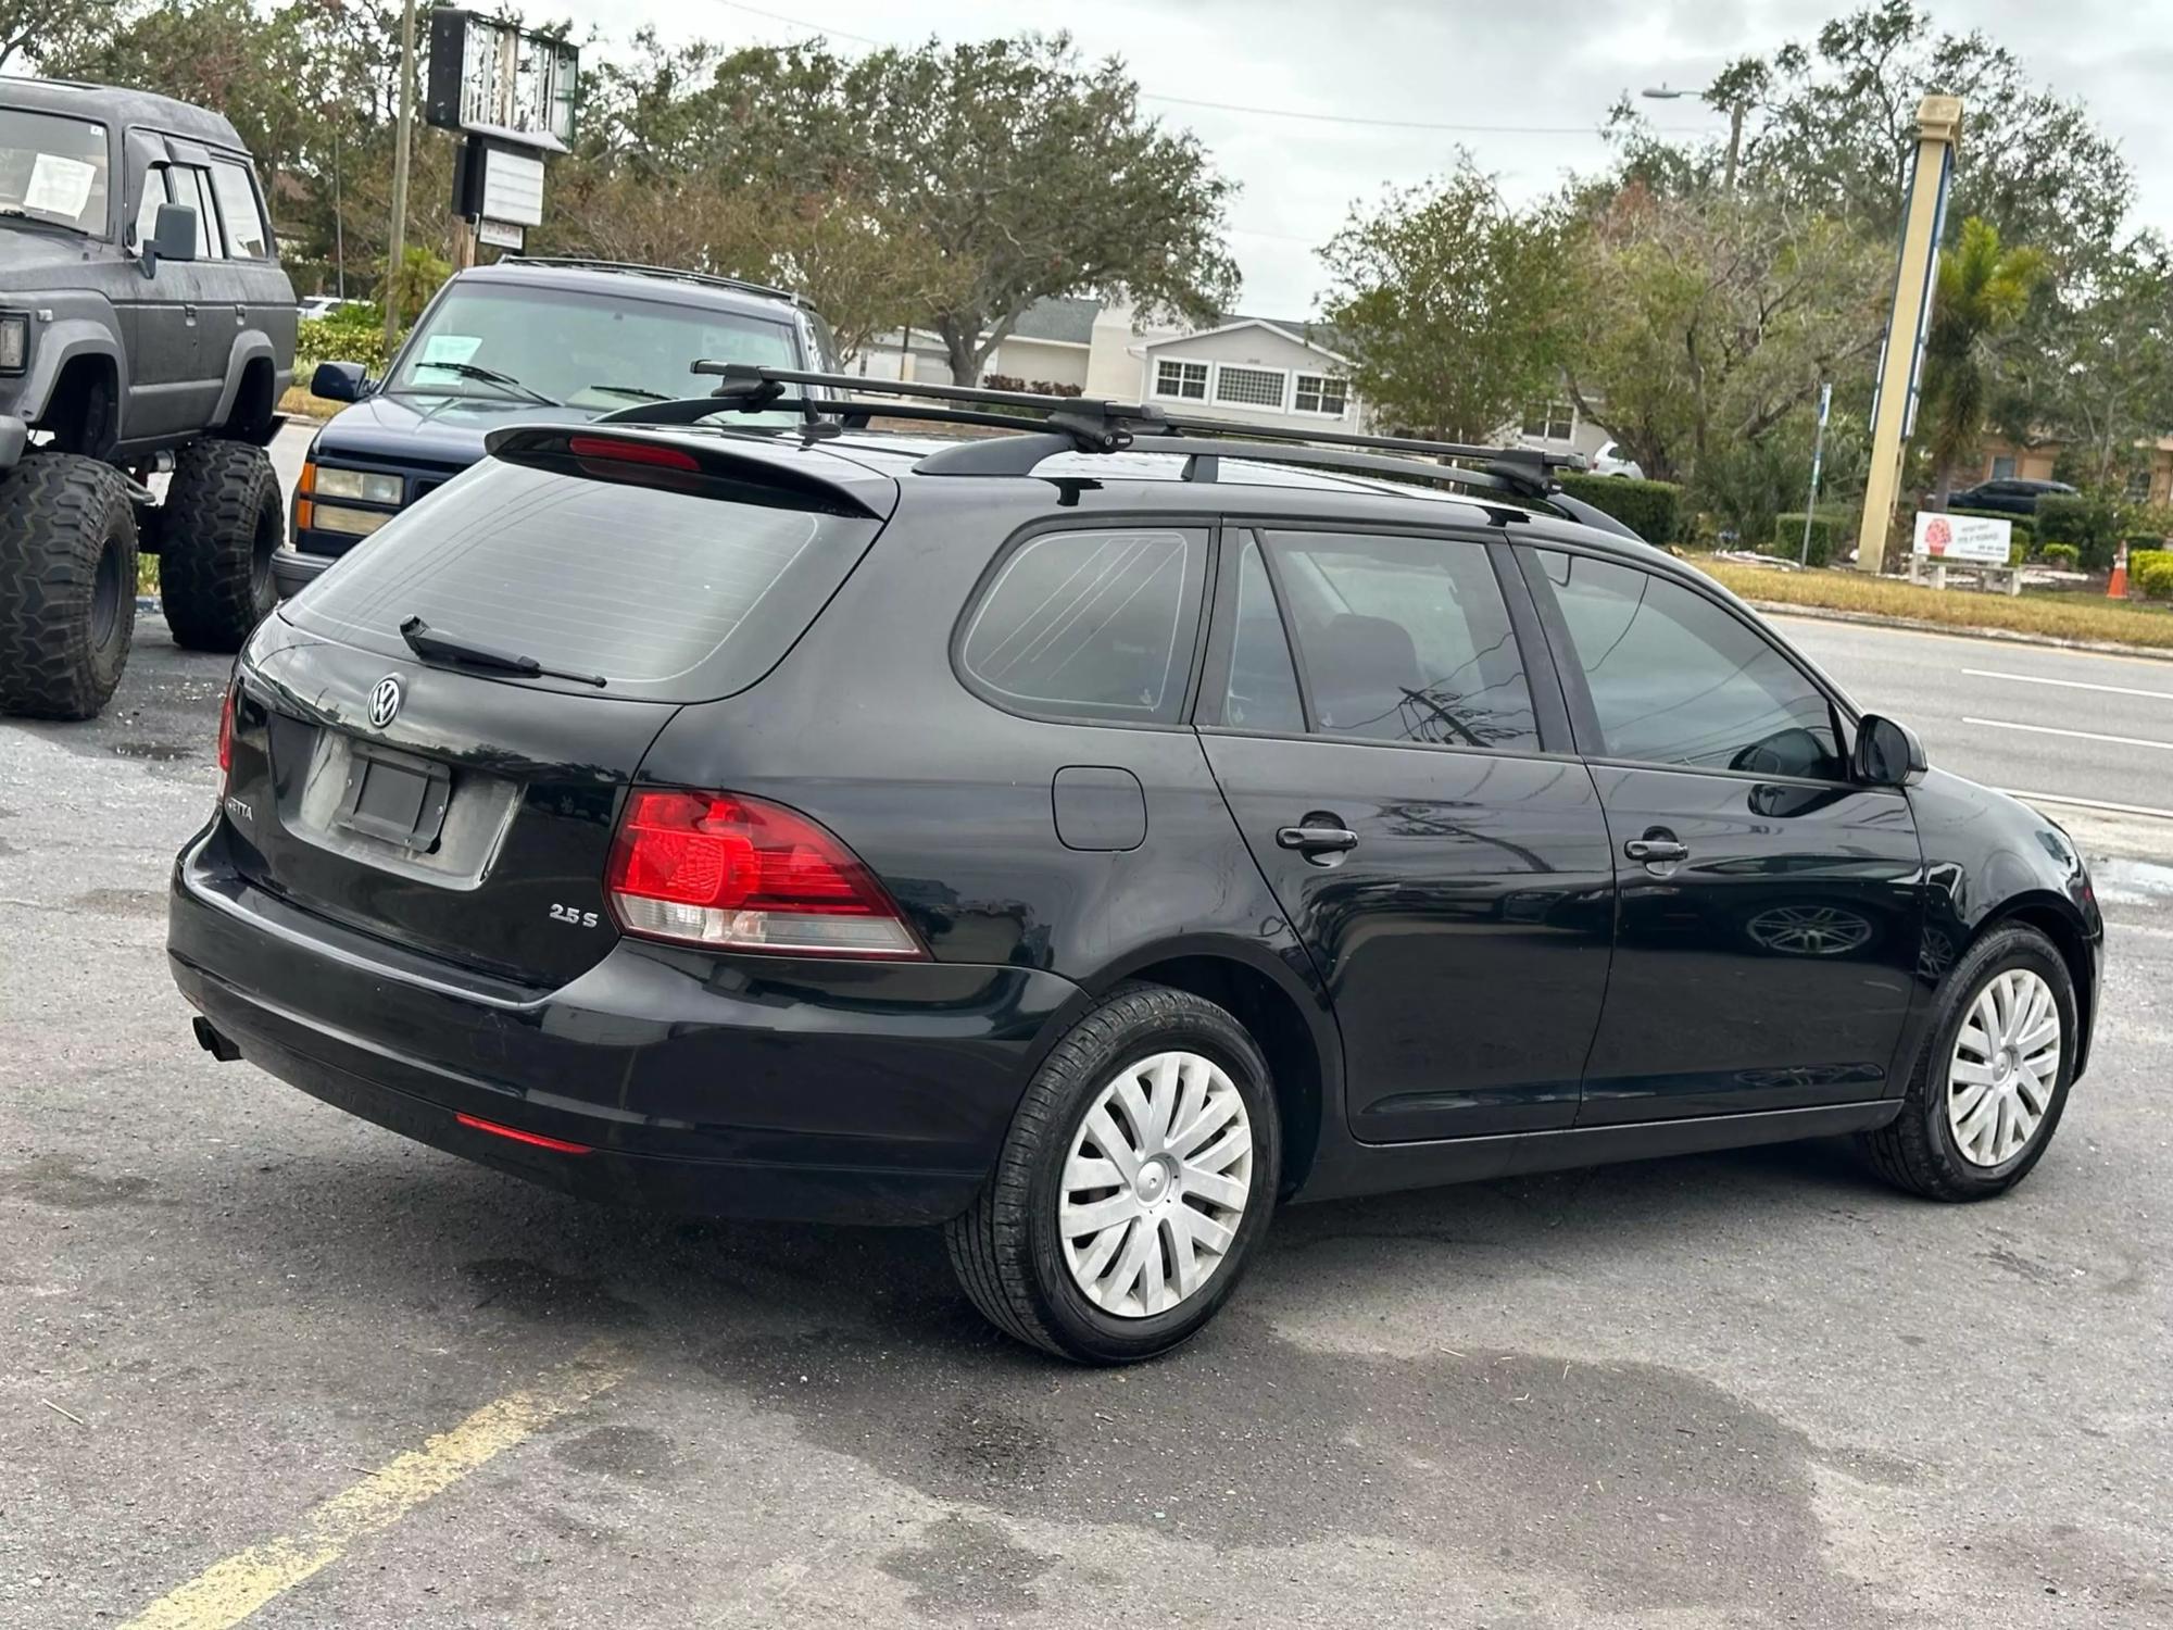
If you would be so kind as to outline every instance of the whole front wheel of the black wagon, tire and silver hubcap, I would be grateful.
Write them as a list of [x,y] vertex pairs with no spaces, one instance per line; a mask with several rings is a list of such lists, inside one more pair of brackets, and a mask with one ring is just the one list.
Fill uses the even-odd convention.
[[2036,928],[1995,928],[1940,987],[1901,1113],[1860,1137],[1871,1165],[1927,1200],[2006,1193],[2060,1126],[2080,1037],[2060,952]]

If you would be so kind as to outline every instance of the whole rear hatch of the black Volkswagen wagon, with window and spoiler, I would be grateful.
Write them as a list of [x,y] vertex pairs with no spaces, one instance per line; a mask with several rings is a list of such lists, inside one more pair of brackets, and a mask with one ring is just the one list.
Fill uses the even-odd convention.
[[[895,487],[745,437],[522,430],[502,452],[256,632],[224,819],[254,885],[556,987],[617,939],[613,824],[658,730],[778,663]],[[422,661],[411,617],[545,672]]]

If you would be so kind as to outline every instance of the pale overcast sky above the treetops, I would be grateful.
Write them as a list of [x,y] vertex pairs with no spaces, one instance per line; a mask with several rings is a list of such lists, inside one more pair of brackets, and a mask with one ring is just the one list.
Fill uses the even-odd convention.
[[[667,39],[787,43],[826,33],[869,41],[982,39],[1069,28],[1080,50],[1121,57],[1147,109],[1189,126],[1239,183],[1230,248],[1241,306],[1312,313],[1312,248],[1352,200],[1445,170],[1458,146],[1512,198],[1549,191],[1604,159],[1595,130],[1617,96],[1695,89],[1745,52],[1808,39],[1843,0],[545,0],[624,41],[652,22]],[[2082,96],[2136,170],[2134,224],[2173,230],[2173,0],[1960,0],[1956,33],[1982,28],[2062,96]],[[784,17],[808,26],[795,26]],[[1278,117],[1226,102],[1332,117]],[[1647,102],[1684,133],[1723,130],[1697,100]],[[1467,128],[1395,128],[1362,120]],[[1962,141],[1967,148],[1967,113]]]

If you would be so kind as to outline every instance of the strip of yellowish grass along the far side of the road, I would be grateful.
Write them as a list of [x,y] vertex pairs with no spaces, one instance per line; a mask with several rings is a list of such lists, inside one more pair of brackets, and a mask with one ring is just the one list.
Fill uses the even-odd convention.
[[1695,554],[1691,563],[1745,600],[1767,604],[1860,611],[1873,617],[1906,617],[1945,628],[2006,628],[2053,639],[2158,645],[2173,652],[2173,606],[2106,600],[2086,589],[2025,589],[2021,598],[2008,598],[1980,589],[1925,589],[1912,582],[1871,578],[1862,572],[1771,572]]

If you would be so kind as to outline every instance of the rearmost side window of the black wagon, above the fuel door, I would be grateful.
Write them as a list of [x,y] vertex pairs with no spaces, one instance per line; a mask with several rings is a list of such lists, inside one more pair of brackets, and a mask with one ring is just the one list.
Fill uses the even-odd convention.
[[1026,713],[1169,724],[1184,706],[1204,535],[1047,532],[967,622],[965,672]]

